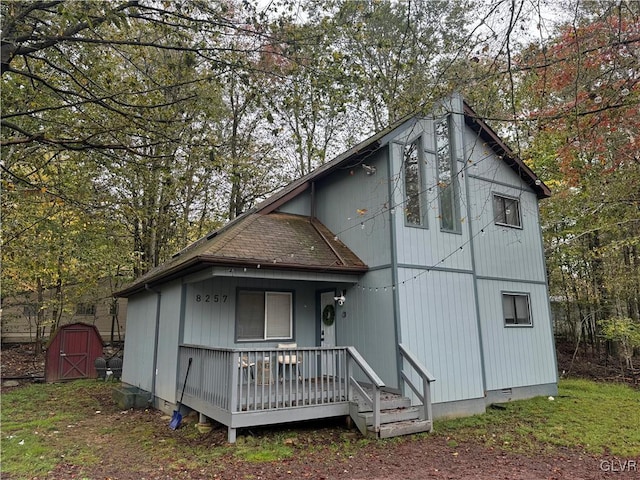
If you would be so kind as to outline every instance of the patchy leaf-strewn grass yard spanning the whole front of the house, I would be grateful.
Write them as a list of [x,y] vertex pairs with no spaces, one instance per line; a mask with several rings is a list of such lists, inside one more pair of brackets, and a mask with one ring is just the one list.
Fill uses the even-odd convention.
[[[416,435],[378,442],[340,428],[336,420],[252,429],[229,445],[220,427],[201,435],[194,426],[197,420],[189,423],[185,418],[183,427],[172,431],[170,418],[157,411],[119,411],[111,400],[113,386],[85,380],[3,393],[3,477],[98,478],[96,472],[108,467],[118,478],[154,478],[158,471],[184,478],[186,471],[250,471],[247,465],[307,459],[312,464],[317,457],[333,465],[433,440],[432,435]],[[436,422],[434,432],[452,449],[473,442],[529,455],[569,447],[592,455],[638,458],[639,424],[637,390],[565,380],[553,401],[504,404],[484,415]],[[135,473],[129,471],[133,465]]]

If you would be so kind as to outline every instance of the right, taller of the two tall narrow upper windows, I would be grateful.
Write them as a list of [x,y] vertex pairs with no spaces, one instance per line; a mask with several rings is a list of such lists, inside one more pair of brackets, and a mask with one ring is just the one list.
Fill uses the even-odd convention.
[[438,197],[440,227],[450,232],[460,231],[458,206],[458,176],[451,152],[451,128],[447,117],[436,123],[436,155],[438,165]]

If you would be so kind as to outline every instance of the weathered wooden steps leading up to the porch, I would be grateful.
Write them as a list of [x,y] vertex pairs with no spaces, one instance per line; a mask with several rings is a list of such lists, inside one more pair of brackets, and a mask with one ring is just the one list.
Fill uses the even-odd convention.
[[373,427],[373,412],[361,399],[351,402],[350,415],[363,435],[378,438],[430,432],[431,420],[421,420],[422,406],[412,406],[411,400],[401,395],[382,392],[380,395],[380,429]]

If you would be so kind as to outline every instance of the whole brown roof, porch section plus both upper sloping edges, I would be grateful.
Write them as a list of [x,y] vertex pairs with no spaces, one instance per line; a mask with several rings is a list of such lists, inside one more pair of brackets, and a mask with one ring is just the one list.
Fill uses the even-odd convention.
[[[549,188],[498,137],[473,109],[464,102],[466,124],[531,187],[538,198],[551,195]],[[419,118],[407,116],[376,133],[330,162],[295,180],[265,199],[220,230],[210,233],[174,255],[166,263],[149,271],[116,295],[127,297],[143,290],[145,285],[186,275],[207,266],[261,265],[266,268],[307,270],[316,272],[362,273],[367,266],[346,245],[334,239],[318,220],[299,215],[277,213],[287,201],[311,187],[314,181],[336,168],[356,161],[385,146],[397,131]]]

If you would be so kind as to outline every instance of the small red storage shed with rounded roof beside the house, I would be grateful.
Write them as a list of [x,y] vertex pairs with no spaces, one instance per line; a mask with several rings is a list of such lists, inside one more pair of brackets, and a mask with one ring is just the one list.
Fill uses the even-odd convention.
[[47,382],[96,378],[95,360],[102,356],[102,337],[95,325],[70,323],[51,337],[45,357]]

